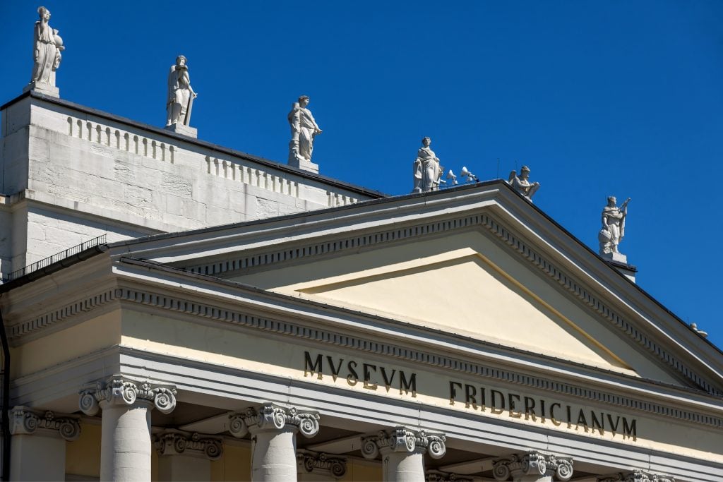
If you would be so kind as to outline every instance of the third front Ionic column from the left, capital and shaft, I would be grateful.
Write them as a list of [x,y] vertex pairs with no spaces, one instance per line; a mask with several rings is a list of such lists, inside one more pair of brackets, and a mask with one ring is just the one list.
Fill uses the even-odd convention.
[[361,439],[361,454],[367,459],[382,455],[382,476],[385,482],[424,482],[424,452],[438,459],[445,455],[445,436],[427,434],[405,427],[380,431]]

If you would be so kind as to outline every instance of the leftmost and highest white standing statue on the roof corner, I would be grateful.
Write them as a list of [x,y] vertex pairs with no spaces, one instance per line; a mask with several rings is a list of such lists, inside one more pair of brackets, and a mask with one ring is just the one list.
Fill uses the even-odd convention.
[[[35,22],[35,42],[33,44],[33,76],[30,78],[30,88],[56,91],[55,71],[60,66],[61,51],[65,49],[63,39],[58,30],[52,28],[50,11],[46,7],[38,9],[40,20]],[[57,95],[57,91],[55,92]]]

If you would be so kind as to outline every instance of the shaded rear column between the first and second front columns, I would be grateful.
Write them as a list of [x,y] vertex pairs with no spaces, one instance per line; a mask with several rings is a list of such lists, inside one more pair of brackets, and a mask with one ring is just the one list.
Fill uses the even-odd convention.
[[223,454],[221,437],[166,430],[153,436],[158,452],[158,480],[208,481],[211,461]]

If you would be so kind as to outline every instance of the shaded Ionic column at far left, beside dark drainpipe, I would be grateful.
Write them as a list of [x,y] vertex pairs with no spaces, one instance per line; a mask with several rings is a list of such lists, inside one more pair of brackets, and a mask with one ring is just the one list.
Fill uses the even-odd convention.
[[10,479],[64,481],[65,442],[80,436],[77,417],[15,407],[9,421]]

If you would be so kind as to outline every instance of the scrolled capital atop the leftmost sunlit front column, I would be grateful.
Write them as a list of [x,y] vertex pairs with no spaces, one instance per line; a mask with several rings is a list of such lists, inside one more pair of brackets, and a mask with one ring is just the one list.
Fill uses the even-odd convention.
[[133,405],[140,401],[153,404],[161,413],[171,413],[176,408],[176,387],[114,375],[95,382],[94,388],[80,391],[80,410],[90,416],[103,408],[100,403]]

